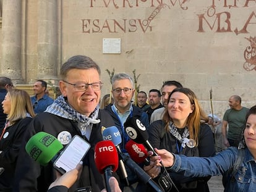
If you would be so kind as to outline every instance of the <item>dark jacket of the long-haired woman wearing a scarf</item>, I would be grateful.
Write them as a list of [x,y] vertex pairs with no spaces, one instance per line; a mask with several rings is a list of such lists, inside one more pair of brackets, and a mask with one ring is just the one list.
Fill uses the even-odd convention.
[[[153,148],[166,149],[174,154],[184,154],[189,157],[210,157],[215,155],[213,134],[211,132],[211,128],[207,124],[202,123],[200,125],[198,146],[194,148],[186,146],[186,148],[182,149],[181,152],[178,152],[177,150],[177,145],[179,146],[179,149],[181,149],[181,146],[176,142],[176,138],[171,135],[169,131],[166,132],[164,127],[165,124],[163,120],[156,120],[150,124],[150,127],[148,128],[148,141],[151,143]],[[174,172],[171,172],[170,175],[179,191],[209,191],[207,185],[209,177],[187,178],[180,173]]]

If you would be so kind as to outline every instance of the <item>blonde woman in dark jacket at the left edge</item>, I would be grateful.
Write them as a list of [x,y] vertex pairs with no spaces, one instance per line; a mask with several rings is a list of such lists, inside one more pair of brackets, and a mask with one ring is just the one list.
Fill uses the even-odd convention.
[[12,191],[23,136],[35,113],[28,93],[16,89],[7,92],[2,109],[7,114],[7,122],[0,131],[0,167],[4,168],[0,175],[0,191]]

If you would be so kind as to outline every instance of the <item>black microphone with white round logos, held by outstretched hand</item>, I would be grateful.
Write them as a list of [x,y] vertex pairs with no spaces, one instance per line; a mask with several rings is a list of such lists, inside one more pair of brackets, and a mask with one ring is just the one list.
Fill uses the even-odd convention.
[[157,156],[157,153],[148,142],[148,132],[146,127],[135,117],[130,117],[124,123],[124,129],[131,140],[136,143],[143,144],[148,151],[153,151],[153,156]]

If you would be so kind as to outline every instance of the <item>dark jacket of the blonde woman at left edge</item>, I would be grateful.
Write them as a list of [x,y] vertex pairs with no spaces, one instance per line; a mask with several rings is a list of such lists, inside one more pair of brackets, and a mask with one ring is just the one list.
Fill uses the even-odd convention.
[[27,125],[31,120],[32,118],[26,117],[7,127],[4,136],[0,140],[0,151],[2,151],[0,154],[0,167],[4,167],[4,172],[0,175],[0,191],[12,188],[17,157]]

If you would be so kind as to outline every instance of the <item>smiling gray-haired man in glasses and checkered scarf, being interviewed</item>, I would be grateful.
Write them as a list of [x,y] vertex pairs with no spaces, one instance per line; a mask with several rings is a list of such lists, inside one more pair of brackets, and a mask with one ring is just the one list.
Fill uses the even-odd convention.
[[[96,143],[103,140],[101,128],[114,125],[113,119],[99,105],[103,86],[100,67],[90,57],[73,56],[61,66],[60,76],[59,88],[62,95],[45,112],[36,115],[28,127],[25,140],[39,131],[55,136],[63,146],[75,135],[82,137],[90,143],[90,149],[83,158],[80,179],[70,191],[77,188],[82,191],[85,186],[91,186],[93,191],[100,192],[105,188],[105,180],[96,169],[94,148]],[[14,191],[47,191],[55,178],[53,164],[40,167],[23,151],[17,162],[20,165],[16,180],[19,185]]]

